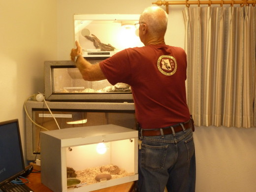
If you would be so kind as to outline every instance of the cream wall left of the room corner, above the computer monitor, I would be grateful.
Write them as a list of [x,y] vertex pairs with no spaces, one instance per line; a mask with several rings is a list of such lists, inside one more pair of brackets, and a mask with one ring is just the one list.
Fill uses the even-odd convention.
[[23,150],[23,103],[44,91],[43,62],[57,59],[56,10],[55,0],[0,0],[0,122],[19,119]]

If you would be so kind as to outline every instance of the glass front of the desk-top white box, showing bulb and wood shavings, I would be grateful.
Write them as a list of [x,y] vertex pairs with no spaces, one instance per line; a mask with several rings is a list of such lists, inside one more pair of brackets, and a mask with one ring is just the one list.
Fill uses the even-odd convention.
[[134,164],[134,138],[67,147],[67,188],[134,175]]

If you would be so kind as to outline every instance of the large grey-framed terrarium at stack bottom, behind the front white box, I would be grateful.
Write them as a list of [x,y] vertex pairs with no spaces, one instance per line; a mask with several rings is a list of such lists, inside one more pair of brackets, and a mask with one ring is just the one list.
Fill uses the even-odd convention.
[[[133,103],[102,102],[54,102],[47,101],[52,114],[44,102],[27,101],[26,109],[37,125],[48,130],[90,127],[113,124],[125,128],[136,129]],[[27,160],[40,158],[40,132],[46,131],[34,125],[26,116],[26,151]]]

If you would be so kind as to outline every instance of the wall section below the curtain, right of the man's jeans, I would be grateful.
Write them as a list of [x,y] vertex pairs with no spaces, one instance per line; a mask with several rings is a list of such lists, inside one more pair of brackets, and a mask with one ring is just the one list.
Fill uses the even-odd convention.
[[256,192],[255,135],[256,128],[196,128],[196,192]]

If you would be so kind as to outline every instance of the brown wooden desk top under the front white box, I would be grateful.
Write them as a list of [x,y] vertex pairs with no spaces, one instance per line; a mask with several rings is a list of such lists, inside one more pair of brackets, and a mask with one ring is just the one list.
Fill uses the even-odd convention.
[[[26,183],[26,185],[34,192],[53,192],[41,183],[41,172],[31,173],[29,174],[27,179],[29,180],[29,183]],[[25,179],[22,180],[26,182]],[[135,182],[124,183],[121,185],[112,186],[93,192],[133,192],[134,183]]]

